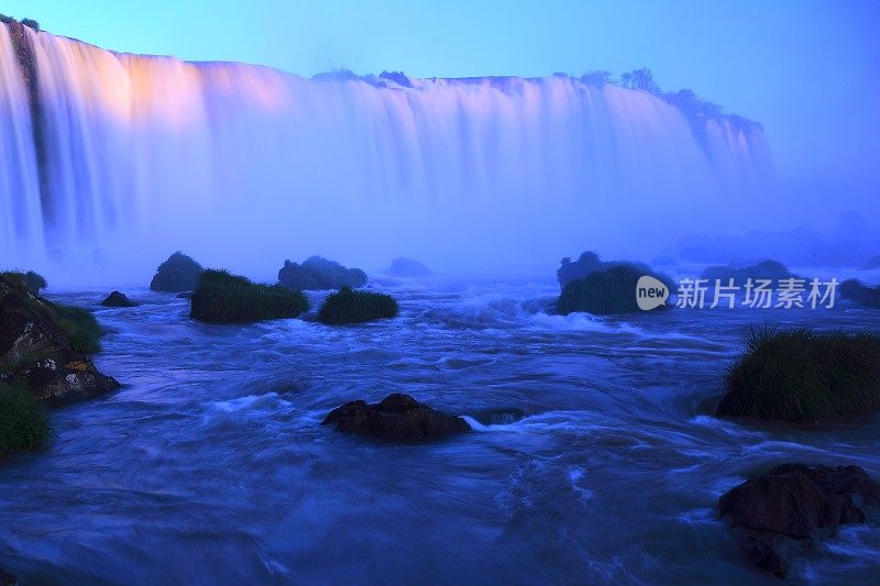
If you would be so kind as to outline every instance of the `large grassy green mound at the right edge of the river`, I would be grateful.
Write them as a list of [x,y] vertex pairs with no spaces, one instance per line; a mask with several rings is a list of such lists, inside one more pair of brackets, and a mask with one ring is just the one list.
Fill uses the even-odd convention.
[[880,335],[754,330],[727,372],[718,416],[815,421],[880,408]]

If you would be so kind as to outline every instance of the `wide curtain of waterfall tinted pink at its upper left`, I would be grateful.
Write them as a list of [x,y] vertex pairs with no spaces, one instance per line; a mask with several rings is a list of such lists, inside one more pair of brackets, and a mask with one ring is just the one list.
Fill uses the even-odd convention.
[[152,267],[184,247],[268,274],[316,252],[431,261],[438,242],[446,258],[556,261],[622,232],[729,220],[729,197],[771,175],[757,124],[689,121],[612,85],[308,80],[19,25],[29,81],[0,29],[2,265]]

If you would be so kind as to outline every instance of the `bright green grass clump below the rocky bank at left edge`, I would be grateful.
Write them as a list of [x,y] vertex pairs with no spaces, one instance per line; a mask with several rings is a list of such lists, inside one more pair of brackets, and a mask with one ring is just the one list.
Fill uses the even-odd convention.
[[45,407],[22,386],[0,382],[0,456],[38,450],[51,438]]

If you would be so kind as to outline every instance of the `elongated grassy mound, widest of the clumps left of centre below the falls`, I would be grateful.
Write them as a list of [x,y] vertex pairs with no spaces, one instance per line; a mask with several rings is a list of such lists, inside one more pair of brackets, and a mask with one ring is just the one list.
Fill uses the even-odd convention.
[[300,291],[258,285],[226,270],[206,270],[193,292],[190,318],[213,323],[296,318],[308,311]]

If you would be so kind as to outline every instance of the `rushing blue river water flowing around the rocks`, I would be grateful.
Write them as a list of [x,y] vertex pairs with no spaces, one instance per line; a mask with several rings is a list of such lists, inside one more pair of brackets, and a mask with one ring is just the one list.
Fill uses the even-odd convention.
[[[864,328],[876,313],[543,312],[552,281],[384,281],[398,319],[206,325],[188,301],[96,313],[123,383],[54,413],[48,451],[0,467],[0,565],[23,584],[776,582],[740,557],[723,491],[788,461],[880,476],[880,418],[718,420],[752,323]],[[96,306],[107,291],[51,296]],[[314,295],[312,301],[321,295]],[[322,428],[407,392],[476,431],[382,445]],[[486,409],[521,409],[483,425]],[[877,579],[880,530],[845,529],[795,581]]]

